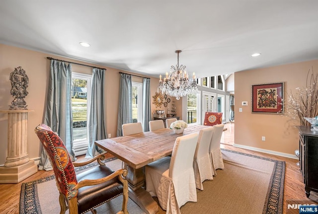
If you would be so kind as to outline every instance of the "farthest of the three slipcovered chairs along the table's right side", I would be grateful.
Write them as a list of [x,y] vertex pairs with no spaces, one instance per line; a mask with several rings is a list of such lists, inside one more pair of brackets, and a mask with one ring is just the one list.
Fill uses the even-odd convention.
[[222,158],[222,152],[220,147],[221,137],[224,129],[224,124],[213,126],[214,131],[211,138],[211,144],[209,148],[211,166],[213,175],[217,174],[217,169],[224,169],[224,163]]

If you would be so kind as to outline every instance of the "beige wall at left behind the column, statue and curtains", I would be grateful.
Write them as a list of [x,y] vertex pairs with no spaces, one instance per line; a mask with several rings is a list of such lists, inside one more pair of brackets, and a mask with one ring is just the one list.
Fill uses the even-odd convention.
[[[0,109],[7,110],[13,100],[10,94],[11,84],[9,75],[14,68],[21,66],[29,77],[29,86],[25,101],[27,108],[34,110],[28,115],[28,130],[27,130],[27,150],[31,159],[36,159],[40,156],[40,142],[34,134],[34,128],[44,121],[44,111],[46,104],[46,94],[48,85],[48,74],[50,61],[46,57],[78,62],[86,65],[102,67],[99,65],[87,64],[76,60],[70,60],[63,57],[58,57],[50,54],[30,51],[26,49],[16,48],[0,44]],[[104,68],[104,67],[102,67]],[[105,103],[106,103],[106,130],[107,134],[112,137],[116,136],[117,132],[117,115],[118,115],[118,94],[120,83],[120,70],[106,68],[105,73]],[[74,72],[91,74],[92,68],[72,64]],[[127,71],[123,71],[129,73]],[[137,74],[140,75],[140,74]],[[147,76],[150,77],[150,76]],[[135,81],[142,82],[142,78],[134,77]],[[151,77],[151,96],[157,91],[159,78]],[[151,97],[152,99],[152,97]],[[171,98],[172,100],[172,98]],[[178,115],[181,116],[182,100],[177,102]],[[171,103],[170,103],[171,104]],[[170,106],[171,108],[171,106]],[[155,110],[154,104],[151,105],[152,112]],[[0,165],[3,165],[7,156],[7,114],[0,113]]]

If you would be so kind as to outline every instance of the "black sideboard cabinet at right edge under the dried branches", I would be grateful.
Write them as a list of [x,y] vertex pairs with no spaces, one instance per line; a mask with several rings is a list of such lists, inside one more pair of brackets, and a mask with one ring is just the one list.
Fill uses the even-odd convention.
[[318,192],[318,132],[310,127],[299,128],[300,171],[304,178],[307,198],[310,191]]

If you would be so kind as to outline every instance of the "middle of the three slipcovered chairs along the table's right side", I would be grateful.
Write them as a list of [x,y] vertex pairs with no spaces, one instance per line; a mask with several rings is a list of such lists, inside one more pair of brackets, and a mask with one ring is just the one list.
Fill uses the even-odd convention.
[[213,131],[213,127],[200,130],[197,147],[194,153],[193,169],[195,185],[199,190],[203,190],[203,181],[213,180],[211,158],[209,153]]

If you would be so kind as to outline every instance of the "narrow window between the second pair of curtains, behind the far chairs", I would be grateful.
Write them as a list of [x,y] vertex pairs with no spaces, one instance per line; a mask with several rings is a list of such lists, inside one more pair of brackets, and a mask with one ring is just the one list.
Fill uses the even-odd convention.
[[132,82],[132,119],[133,123],[143,122],[143,84]]

